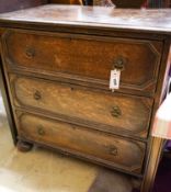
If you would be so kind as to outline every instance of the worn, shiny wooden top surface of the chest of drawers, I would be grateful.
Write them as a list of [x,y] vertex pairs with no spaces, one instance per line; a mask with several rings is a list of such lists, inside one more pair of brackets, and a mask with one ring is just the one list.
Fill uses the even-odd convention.
[[0,14],[0,26],[104,27],[171,34],[171,10],[114,9],[46,4]]

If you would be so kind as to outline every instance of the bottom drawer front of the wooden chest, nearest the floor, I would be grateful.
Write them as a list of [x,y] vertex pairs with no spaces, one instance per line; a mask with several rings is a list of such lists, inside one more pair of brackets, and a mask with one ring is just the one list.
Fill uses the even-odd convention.
[[19,113],[19,135],[129,172],[141,172],[145,144]]

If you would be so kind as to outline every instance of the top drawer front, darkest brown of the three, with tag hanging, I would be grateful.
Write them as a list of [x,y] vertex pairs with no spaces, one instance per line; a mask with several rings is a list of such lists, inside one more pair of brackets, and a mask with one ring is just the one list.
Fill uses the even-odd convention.
[[9,31],[5,61],[13,68],[66,77],[109,89],[110,74],[123,65],[122,91],[155,92],[162,43],[90,35]]

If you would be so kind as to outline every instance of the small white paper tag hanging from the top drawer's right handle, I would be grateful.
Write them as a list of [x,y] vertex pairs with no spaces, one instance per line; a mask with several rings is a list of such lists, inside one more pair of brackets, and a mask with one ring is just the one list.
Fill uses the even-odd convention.
[[111,70],[111,78],[110,78],[110,89],[119,89],[119,77],[121,70],[114,69]]

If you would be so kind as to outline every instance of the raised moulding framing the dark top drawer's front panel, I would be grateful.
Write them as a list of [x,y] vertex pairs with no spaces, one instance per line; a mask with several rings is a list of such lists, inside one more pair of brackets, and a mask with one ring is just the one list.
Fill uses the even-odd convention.
[[[141,84],[134,84],[134,83],[121,83],[121,87],[124,88],[124,89],[133,89],[133,90],[136,90],[136,91],[145,91],[147,88],[149,88],[151,84],[153,86],[153,90],[150,91],[149,93],[153,94],[155,91],[156,91],[156,83],[157,83],[157,76],[158,76],[158,71],[159,71],[159,66],[160,66],[160,53],[158,52],[158,49],[155,47],[155,45],[152,43],[150,43],[150,39],[134,39],[134,38],[121,38],[121,37],[107,37],[107,36],[94,36],[94,35],[86,35],[86,34],[68,34],[68,33],[49,33],[49,32],[41,32],[38,33],[38,31],[27,31],[27,30],[7,30],[4,32],[4,34],[2,35],[2,44],[3,44],[3,54],[5,55],[5,63],[9,64],[9,66],[11,67],[12,70],[14,70],[16,67],[19,68],[19,70],[23,70],[23,71],[26,71],[26,72],[39,72],[38,69],[35,69],[35,68],[26,68],[26,67],[21,67],[19,66],[18,64],[16,65],[13,65],[14,61],[10,60],[10,57],[9,57],[9,52],[8,52],[8,46],[7,46],[7,42],[5,42],[5,38],[8,36],[11,35],[12,32],[20,32],[20,33],[29,33],[29,34],[38,34],[38,35],[48,35],[48,36],[60,36],[60,37],[70,37],[70,38],[79,38],[79,39],[93,39],[93,41],[105,41],[105,42],[133,42],[135,44],[146,44],[148,45],[149,49],[156,55],[156,57],[158,57],[158,59],[156,59],[156,68],[153,70],[153,77],[147,81],[147,82],[144,82]],[[156,41],[156,42],[160,42],[162,43],[163,45],[163,42],[161,41]],[[162,50],[162,49],[161,49]],[[161,52],[160,50],[160,52]],[[158,63],[159,60],[159,63]],[[101,80],[101,79],[95,79],[95,78],[89,78],[89,77],[81,77],[81,76],[77,76],[77,75],[69,75],[67,72],[54,72],[54,71],[44,71],[42,70],[41,71],[42,75],[47,75],[47,76],[58,76],[58,78],[68,78],[68,79],[72,79],[72,80],[80,80],[80,81],[83,81],[83,82],[89,82],[89,83],[96,83],[96,84],[104,84],[104,86],[107,86],[109,87],[109,82],[106,80]]]

